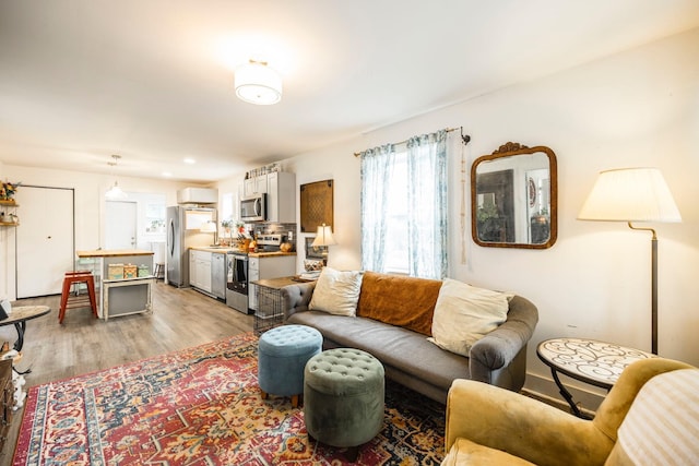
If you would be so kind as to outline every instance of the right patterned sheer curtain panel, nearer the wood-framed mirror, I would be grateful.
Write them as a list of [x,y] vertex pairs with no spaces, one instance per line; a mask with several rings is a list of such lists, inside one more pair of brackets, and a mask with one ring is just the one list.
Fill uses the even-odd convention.
[[446,130],[407,141],[407,174],[410,274],[441,279],[449,270]]

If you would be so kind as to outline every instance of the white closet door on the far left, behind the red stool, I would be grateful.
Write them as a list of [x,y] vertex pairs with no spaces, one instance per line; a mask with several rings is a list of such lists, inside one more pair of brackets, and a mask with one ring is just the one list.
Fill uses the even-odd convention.
[[16,297],[58,295],[73,270],[73,190],[23,186],[15,194]]

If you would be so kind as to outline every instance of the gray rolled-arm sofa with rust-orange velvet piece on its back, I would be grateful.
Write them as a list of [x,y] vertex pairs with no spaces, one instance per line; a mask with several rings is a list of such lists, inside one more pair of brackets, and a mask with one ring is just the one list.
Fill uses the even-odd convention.
[[425,333],[408,328],[415,326],[414,322],[402,326],[396,325],[395,320],[386,323],[362,315],[363,306],[367,308],[380,301],[383,308],[401,307],[403,314],[406,308],[427,308],[425,319],[431,319],[435,289],[437,292],[439,289],[437,280],[367,272],[357,316],[309,310],[315,286],[315,283],[299,283],[282,289],[284,323],[317,328],[323,335],[325,349],[351,347],[374,355],[383,363],[387,378],[402,385],[446,404],[454,379],[476,380],[511,391],[519,391],[524,384],[526,344],[538,321],[536,307],[525,298],[514,296],[509,301],[507,321],[476,342],[470,357],[464,357],[439,348]]

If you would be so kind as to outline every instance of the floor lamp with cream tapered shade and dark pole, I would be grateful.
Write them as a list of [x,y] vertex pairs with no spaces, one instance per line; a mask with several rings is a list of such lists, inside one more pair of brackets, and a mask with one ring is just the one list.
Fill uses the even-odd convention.
[[651,348],[657,354],[657,236],[633,222],[682,222],[663,175],[656,168],[601,171],[578,215],[581,220],[626,222],[629,228],[651,231]]

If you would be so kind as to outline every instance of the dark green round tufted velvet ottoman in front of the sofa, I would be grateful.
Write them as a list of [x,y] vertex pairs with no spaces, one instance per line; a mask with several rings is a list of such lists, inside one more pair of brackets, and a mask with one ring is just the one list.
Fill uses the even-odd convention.
[[304,371],[308,434],[339,447],[368,442],[383,427],[383,366],[368,353],[335,348],[313,356]]

